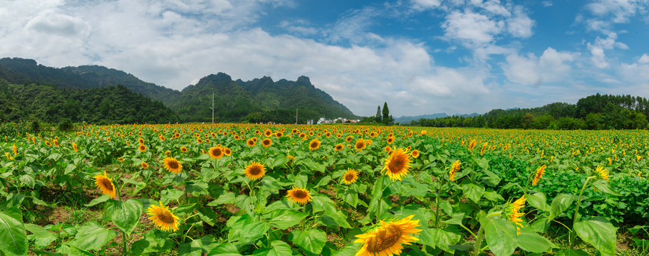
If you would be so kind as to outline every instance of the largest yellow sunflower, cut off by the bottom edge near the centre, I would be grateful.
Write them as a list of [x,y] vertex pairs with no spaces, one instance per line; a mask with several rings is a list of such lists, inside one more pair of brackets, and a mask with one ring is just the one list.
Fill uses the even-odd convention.
[[419,240],[411,235],[419,235],[421,231],[416,229],[419,226],[419,220],[412,220],[412,217],[415,215],[389,223],[381,220],[379,228],[369,233],[355,235],[358,239],[354,242],[363,243],[363,247],[360,247],[360,250],[356,252],[356,256],[400,255],[403,244],[410,245],[410,242]]

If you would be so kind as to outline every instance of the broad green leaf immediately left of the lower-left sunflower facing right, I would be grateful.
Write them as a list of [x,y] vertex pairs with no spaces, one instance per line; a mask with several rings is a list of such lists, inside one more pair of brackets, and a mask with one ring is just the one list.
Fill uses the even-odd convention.
[[113,220],[115,226],[124,231],[126,235],[130,235],[137,226],[137,223],[140,223],[142,202],[138,199],[130,199],[128,201],[111,199],[106,201],[104,207],[110,220]]

